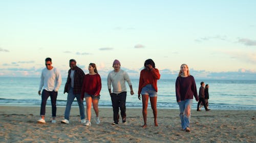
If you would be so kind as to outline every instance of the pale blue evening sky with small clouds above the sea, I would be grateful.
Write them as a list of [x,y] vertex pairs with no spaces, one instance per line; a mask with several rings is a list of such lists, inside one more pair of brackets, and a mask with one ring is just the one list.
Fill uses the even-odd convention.
[[0,77],[39,77],[45,59],[106,77],[113,61],[139,78],[256,79],[256,1],[0,1]]

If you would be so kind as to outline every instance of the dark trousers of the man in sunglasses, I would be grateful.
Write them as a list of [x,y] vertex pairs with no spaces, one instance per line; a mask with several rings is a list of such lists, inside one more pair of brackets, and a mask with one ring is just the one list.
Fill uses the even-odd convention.
[[52,91],[46,91],[42,90],[42,102],[41,102],[41,109],[40,109],[40,116],[45,116],[46,114],[46,102],[48,97],[51,97],[51,103],[52,103],[52,117],[56,117],[56,100],[57,100],[58,92]]

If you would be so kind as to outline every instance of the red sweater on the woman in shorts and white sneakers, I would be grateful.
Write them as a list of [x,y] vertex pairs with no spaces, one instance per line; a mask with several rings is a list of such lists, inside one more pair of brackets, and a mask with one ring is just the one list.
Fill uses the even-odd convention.
[[98,96],[101,90],[101,78],[99,74],[86,74],[83,78],[81,99],[84,93]]

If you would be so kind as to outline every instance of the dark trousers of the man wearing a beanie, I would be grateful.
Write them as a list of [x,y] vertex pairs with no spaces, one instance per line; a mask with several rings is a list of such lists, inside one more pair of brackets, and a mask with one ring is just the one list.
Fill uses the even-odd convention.
[[119,107],[121,110],[121,116],[122,119],[126,118],[126,106],[125,106],[125,102],[126,102],[126,92],[121,92],[119,94],[115,94],[112,93],[111,94],[111,101],[112,101],[112,107],[113,107],[113,119],[114,122],[119,121]]

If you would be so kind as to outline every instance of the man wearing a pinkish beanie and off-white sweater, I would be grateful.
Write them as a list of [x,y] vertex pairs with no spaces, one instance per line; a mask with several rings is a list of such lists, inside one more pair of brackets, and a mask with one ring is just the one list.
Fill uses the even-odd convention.
[[[118,60],[115,60],[113,62],[113,68],[114,70],[111,71],[108,75],[108,89],[110,92],[111,96],[111,101],[112,101],[112,107],[113,107],[113,119],[114,122],[112,123],[113,125],[118,125],[119,122],[119,108],[121,110],[121,117],[122,117],[122,122],[126,123],[126,85],[125,81],[129,84],[130,90],[131,90],[131,95],[134,94],[133,92],[133,87],[132,87],[132,82],[128,76],[128,74],[120,69],[120,62]],[[113,92],[111,91],[111,84],[113,87]]]

